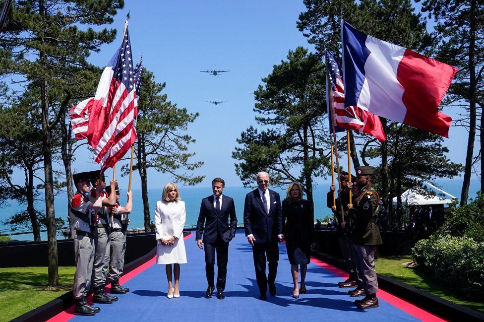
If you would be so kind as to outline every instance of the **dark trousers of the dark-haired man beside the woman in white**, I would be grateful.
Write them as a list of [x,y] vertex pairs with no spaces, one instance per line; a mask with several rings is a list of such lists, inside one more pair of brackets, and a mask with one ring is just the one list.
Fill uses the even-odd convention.
[[227,261],[229,259],[229,243],[220,236],[215,243],[204,243],[205,248],[205,272],[207,274],[208,286],[214,287],[215,278],[215,251],[217,252],[217,290],[225,290],[227,281]]

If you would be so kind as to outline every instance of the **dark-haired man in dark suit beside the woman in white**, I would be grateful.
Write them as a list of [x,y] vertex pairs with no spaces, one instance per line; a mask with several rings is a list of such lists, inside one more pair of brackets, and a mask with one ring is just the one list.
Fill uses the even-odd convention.
[[[212,297],[214,290],[215,251],[217,251],[218,267],[217,298],[219,300],[225,298],[224,289],[227,280],[229,242],[235,236],[237,228],[234,199],[222,195],[224,188],[225,181],[222,178],[212,180],[213,194],[202,199],[197,221],[196,242],[200,249],[203,249],[203,245],[205,245],[205,272],[208,281],[205,297],[207,299]],[[205,228],[203,227],[204,224]]]

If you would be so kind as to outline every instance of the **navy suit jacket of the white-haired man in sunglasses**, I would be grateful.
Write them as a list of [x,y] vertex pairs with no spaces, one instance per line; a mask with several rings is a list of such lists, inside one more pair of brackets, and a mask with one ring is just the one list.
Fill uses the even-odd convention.
[[270,209],[267,213],[260,198],[259,189],[245,196],[243,226],[245,236],[254,235],[255,243],[277,242],[277,235],[282,235],[282,209],[279,193],[269,190]]

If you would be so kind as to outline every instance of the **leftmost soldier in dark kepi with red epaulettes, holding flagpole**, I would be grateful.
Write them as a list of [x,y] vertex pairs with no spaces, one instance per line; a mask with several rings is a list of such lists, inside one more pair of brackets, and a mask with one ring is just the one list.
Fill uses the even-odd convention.
[[77,192],[71,200],[69,220],[72,229],[75,230],[76,241],[74,243],[76,270],[74,274],[74,314],[90,316],[99,312],[99,308],[87,304],[86,296],[91,286],[92,265],[94,260],[94,240],[92,225],[92,211],[101,209],[103,196],[101,187],[93,189],[93,201],[89,201],[88,193],[91,189],[89,172],[81,172],[72,175]]

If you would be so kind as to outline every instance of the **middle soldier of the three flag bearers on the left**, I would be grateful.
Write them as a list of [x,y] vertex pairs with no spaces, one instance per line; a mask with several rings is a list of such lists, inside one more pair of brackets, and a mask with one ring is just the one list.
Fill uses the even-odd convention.
[[[104,182],[104,176],[102,180],[100,179],[101,171],[91,171],[90,178],[91,183],[96,187],[98,183],[100,189],[104,190],[106,188],[106,183]],[[114,206],[116,204],[116,192],[115,187],[117,180],[111,180],[110,185],[112,188],[111,194],[103,193],[105,196],[103,198],[103,207],[97,210],[98,221],[95,223],[96,227],[94,229],[94,265],[92,269],[91,285],[93,290],[92,301],[94,303],[108,304],[117,301],[116,296],[112,297],[106,294],[106,275],[108,272],[109,265],[109,234],[110,234],[110,216],[107,213],[106,207]],[[94,198],[94,194],[89,195],[90,200]]]

